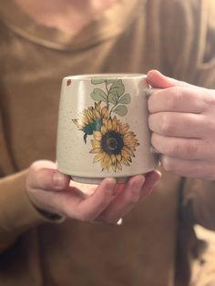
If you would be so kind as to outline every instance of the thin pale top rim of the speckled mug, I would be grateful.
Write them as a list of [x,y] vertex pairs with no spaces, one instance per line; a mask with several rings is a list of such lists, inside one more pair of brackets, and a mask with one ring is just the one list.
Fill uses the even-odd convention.
[[96,78],[106,78],[106,79],[130,79],[130,78],[145,78],[146,74],[138,73],[101,73],[101,74],[84,74],[84,75],[74,75],[64,77],[65,80],[76,79],[76,80],[91,80]]

